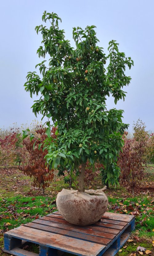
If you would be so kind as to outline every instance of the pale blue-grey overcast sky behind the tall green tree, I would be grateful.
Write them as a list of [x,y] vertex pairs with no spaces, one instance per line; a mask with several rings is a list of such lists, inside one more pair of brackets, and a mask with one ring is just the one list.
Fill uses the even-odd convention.
[[[35,119],[29,93],[24,90],[26,74],[40,63],[36,51],[41,36],[34,28],[42,24],[42,14],[56,12],[62,18],[61,29],[71,41],[72,28],[96,25],[99,46],[107,53],[108,42],[120,43],[119,50],[134,60],[127,72],[132,81],[124,90],[125,101],[116,108],[124,109],[124,122],[132,130],[140,118],[147,130],[154,130],[154,1],[153,0],[14,0],[0,3],[0,128]],[[115,107],[113,99],[107,108]],[[38,117],[41,120],[41,116]]]

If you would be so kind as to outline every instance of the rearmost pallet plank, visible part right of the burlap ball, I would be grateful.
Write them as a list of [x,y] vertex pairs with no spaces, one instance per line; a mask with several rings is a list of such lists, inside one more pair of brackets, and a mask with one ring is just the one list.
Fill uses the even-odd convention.
[[112,213],[112,212],[105,212],[102,218],[111,219],[111,220],[119,220],[124,222],[130,222],[132,218],[135,216],[126,215],[126,214],[119,214],[119,213]]

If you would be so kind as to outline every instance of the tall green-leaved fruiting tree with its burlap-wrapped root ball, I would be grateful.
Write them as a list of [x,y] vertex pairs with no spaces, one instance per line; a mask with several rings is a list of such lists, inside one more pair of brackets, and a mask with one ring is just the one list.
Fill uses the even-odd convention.
[[[103,164],[105,182],[109,186],[116,186],[119,184],[120,174],[116,161],[123,147],[122,135],[128,125],[122,122],[123,110],[107,110],[105,102],[109,96],[114,97],[115,104],[125,98],[123,87],[130,83],[131,77],[126,76],[124,72],[126,66],[131,68],[133,61],[130,57],[126,58],[124,52],[119,52],[119,44],[115,40],[109,42],[109,53],[105,55],[103,47],[98,46],[99,40],[94,25],[85,29],[73,28],[76,44],[74,49],[65,39],[64,30],[59,29],[61,19],[57,14],[45,11],[42,20],[48,22],[50,27],[36,26],[36,32],[41,32],[43,37],[42,46],[37,53],[39,57],[47,58],[48,62],[43,60],[36,65],[41,77],[36,72],[28,72],[25,90],[30,92],[31,97],[32,94],[41,94],[41,97],[34,101],[32,109],[35,115],[41,113],[43,117],[48,118],[48,138],[44,143],[44,148],[48,151],[47,164],[53,169],[58,166],[71,166],[71,179],[75,184],[77,177],[79,181],[78,196],[80,192],[85,191],[87,161],[93,168],[97,162]],[[51,126],[57,127],[55,140],[51,139]],[[64,200],[66,193],[70,196],[70,192],[64,191]],[[106,210],[106,196],[102,196]],[[82,200],[86,201],[85,198]],[[94,201],[97,200],[92,203]],[[96,210],[100,203],[102,200],[99,199],[93,209]],[[73,211],[74,215],[76,211],[77,208]],[[60,212],[62,213],[62,210]],[[84,225],[81,222],[80,224]]]

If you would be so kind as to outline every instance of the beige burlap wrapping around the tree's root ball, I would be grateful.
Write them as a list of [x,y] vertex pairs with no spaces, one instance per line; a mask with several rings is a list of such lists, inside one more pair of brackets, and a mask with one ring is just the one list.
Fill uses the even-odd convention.
[[108,199],[100,196],[64,189],[56,199],[59,213],[71,224],[86,226],[97,222],[107,210]]

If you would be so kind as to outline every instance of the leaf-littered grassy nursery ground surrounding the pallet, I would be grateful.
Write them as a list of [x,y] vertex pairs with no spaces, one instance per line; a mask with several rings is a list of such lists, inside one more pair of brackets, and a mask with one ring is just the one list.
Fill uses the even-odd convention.
[[[120,214],[133,214],[136,217],[136,229],[132,233],[130,240],[123,246],[122,251],[117,255],[154,255],[154,165],[145,167],[144,180],[140,187],[132,196],[127,188],[120,185],[119,188],[105,190],[109,204],[108,211]],[[55,177],[49,188],[46,189],[46,195],[42,195],[42,190],[31,186],[32,180],[24,175],[16,167],[0,168],[0,255],[3,253],[3,233],[31,222],[45,214],[55,210],[55,198],[62,188],[68,188],[69,184],[64,184],[63,177]],[[95,177],[89,188],[102,188],[99,174]],[[140,254],[137,252],[138,246]],[[33,244],[25,248],[33,252],[39,251],[38,246]],[[150,253],[149,253],[150,252]],[[66,254],[67,255],[67,254]]]

